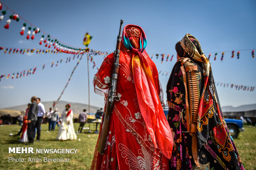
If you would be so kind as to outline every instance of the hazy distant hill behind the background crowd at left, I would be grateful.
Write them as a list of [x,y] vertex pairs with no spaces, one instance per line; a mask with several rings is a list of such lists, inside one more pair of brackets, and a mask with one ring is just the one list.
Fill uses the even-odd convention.
[[[45,106],[46,112],[49,111],[49,108],[52,108],[53,101],[42,101],[42,103]],[[78,115],[79,113],[81,113],[83,111],[83,109],[86,109],[87,113],[88,113],[88,104],[83,104],[83,103],[72,103],[72,102],[67,102],[67,101],[59,101],[59,103],[55,106],[55,108],[59,108],[59,112],[62,113],[63,110],[65,109],[65,105],[67,103],[70,103],[71,109],[73,110],[74,115]],[[4,108],[4,109],[25,111],[26,108],[27,108],[27,104]],[[100,109],[100,108],[96,107],[96,106],[90,106],[90,113],[96,113],[96,111],[98,109]]]

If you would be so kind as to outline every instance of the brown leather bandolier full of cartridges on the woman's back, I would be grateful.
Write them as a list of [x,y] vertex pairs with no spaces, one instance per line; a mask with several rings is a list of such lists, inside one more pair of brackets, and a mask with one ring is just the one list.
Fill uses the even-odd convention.
[[197,117],[200,101],[198,69],[197,65],[195,65],[190,58],[180,58],[178,61],[182,65],[180,69],[183,74],[186,91],[185,101],[187,131],[189,131],[190,136],[192,136],[192,155],[194,163],[197,165],[197,167],[200,167],[197,154]]

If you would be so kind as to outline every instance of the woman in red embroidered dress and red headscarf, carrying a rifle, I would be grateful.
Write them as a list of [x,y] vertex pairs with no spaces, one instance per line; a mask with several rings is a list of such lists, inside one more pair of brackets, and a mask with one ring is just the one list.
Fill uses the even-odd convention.
[[[162,91],[158,71],[145,51],[146,44],[142,28],[126,25],[119,59],[118,99],[111,114],[105,154],[97,152],[97,142],[91,170],[168,169],[171,129],[159,99]],[[113,54],[108,55],[93,80],[95,92],[104,95],[105,101],[113,62]]]

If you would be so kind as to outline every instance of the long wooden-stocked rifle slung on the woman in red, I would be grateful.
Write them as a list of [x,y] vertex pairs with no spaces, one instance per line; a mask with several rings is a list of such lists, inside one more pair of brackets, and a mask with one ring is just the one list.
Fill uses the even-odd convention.
[[108,129],[109,129],[110,116],[114,107],[114,101],[117,97],[116,83],[117,83],[118,71],[119,71],[119,55],[120,55],[120,46],[121,46],[121,39],[122,39],[121,37],[122,24],[123,24],[123,20],[121,19],[119,35],[117,36],[117,40],[116,40],[116,51],[114,51],[114,64],[112,69],[112,76],[110,79],[109,95],[107,97],[107,106],[104,114],[102,130],[100,133],[100,140],[97,148],[100,154],[104,154],[107,135],[108,135]]

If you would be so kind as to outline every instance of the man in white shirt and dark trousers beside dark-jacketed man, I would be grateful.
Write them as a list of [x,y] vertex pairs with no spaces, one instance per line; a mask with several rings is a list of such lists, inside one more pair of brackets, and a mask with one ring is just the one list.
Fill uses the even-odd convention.
[[41,103],[41,99],[37,98],[38,103],[38,114],[37,114],[37,122],[36,122],[36,129],[37,129],[37,136],[36,141],[40,140],[40,132],[41,132],[41,123],[43,122],[43,119],[45,118],[45,106],[43,103]]

